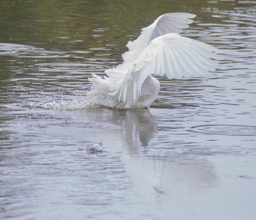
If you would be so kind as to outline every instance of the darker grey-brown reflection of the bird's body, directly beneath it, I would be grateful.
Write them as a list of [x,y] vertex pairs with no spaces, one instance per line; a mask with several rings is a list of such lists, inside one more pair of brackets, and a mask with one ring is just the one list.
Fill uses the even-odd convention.
[[158,137],[156,120],[146,109],[141,111],[93,109],[83,111],[82,116],[92,123],[118,125],[118,132],[115,126],[113,129],[108,129],[107,135],[111,136],[112,141],[115,142],[115,137],[121,133],[123,144],[130,147],[148,146],[151,139]]

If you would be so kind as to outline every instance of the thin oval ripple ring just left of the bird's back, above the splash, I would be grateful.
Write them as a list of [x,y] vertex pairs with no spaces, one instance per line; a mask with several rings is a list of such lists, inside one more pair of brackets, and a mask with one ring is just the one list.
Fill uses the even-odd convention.
[[35,66],[44,72],[88,72],[102,71],[105,69],[99,63],[38,63]]

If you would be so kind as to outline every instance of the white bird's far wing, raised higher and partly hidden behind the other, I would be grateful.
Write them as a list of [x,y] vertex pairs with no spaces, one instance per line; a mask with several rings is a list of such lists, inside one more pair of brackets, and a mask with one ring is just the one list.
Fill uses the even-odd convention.
[[142,29],[141,35],[135,41],[129,41],[126,45],[128,52],[122,54],[124,64],[119,68],[127,67],[133,63],[151,40],[168,33],[181,33],[182,29],[188,28],[196,15],[189,13],[167,13],[158,17],[151,25]]

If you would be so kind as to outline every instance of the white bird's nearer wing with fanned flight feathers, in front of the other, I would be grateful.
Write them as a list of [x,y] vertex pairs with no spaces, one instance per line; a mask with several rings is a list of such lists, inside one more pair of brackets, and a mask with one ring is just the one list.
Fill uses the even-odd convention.
[[[150,42],[147,48],[135,60],[121,84],[110,95],[119,95],[119,101],[126,102],[127,83],[133,84],[134,102],[141,93],[146,78],[152,74],[168,78],[205,76],[214,71],[220,59],[214,52],[219,49],[179,34],[165,34]],[[213,59],[212,59],[213,58]]]

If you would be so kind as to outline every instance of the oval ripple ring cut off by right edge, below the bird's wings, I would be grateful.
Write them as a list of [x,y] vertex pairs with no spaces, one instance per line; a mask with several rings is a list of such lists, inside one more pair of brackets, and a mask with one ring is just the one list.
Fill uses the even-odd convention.
[[194,126],[189,131],[214,134],[214,135],[231,135],[231,136],[254,136],[256,135],[256,126],[246,125],[200,125]]

